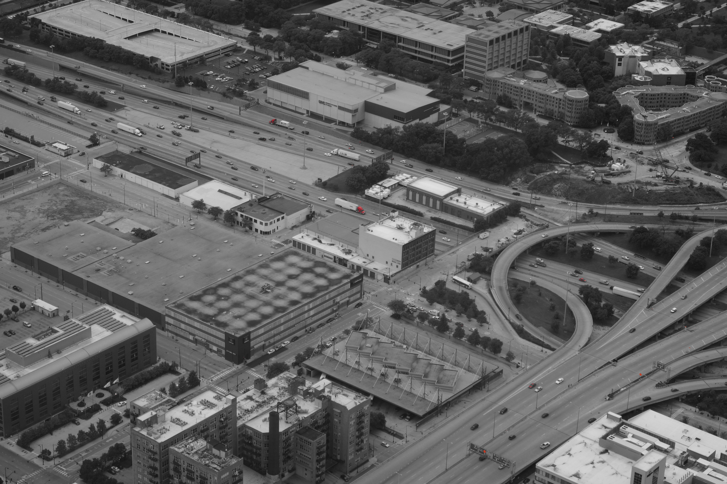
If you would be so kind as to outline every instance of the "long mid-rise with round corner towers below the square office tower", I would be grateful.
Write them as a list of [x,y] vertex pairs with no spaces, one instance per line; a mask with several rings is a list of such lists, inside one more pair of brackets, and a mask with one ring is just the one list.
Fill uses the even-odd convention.
[[588,93],[580,89],[548,86],[539,81],[542,73],[536,76],[508,68],[489,70],[485,74],[481,95],[495,100],[497,96],[507,94],[518,108],[529,106],[536,114],[578,124],[581,115],[588,109]]

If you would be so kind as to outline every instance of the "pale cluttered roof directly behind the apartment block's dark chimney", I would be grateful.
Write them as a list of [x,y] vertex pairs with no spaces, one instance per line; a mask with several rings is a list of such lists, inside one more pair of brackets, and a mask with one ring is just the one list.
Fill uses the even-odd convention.
[[286,417],[280,414],[280,431],[300,422],[305,416],[313,414],[321,408],[321,399],[313,396],[303,397],[302,395],[291,395],[288,392],[290,382],[295,375],[289,371],[279,374],[265,382],[265,392],[250,388],[237,398],[237,426],[246,425],[258,432],[267,433],[270,422],[268,418],[270,411],[276,409],[278,402],[293,400],[296,404],[298,414]]

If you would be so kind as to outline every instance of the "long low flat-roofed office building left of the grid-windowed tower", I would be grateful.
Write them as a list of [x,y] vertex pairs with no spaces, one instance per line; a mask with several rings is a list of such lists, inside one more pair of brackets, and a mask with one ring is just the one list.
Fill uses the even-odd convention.
[[470,29],[368,0],[341,0],[313,10],[316,17],[361,32],[366,42],[392,41],[416,60],[461,64]]

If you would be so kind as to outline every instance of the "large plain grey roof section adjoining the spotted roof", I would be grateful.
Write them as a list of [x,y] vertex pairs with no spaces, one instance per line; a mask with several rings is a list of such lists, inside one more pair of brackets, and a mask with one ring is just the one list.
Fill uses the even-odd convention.
[[194,227],[174,227],[128,249],[111,251],[75,274],[164,314],[169,302],[257,264],[269,254],[270,246],[262,241],[255,243],[198,219]]

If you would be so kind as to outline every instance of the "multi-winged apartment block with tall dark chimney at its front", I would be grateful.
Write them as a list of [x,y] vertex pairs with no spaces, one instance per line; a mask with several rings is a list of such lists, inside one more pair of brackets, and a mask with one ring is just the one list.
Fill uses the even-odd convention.
[[[257,379],[238,398],[239,455],[261,474],[269,472],[277,455],[279,472],[295,472],[309,482],[320,482],[326,456],[329,467],[348,473],[369,459],[370,412],[369,397],[327,379],[310,384],[289,372],[268,381]],[[270,417],[276,415],[278,422],[271,425]],[[308,441],[307,448],[297,448],[300,437]],[[271,448],[275,442],[277,451]]]

